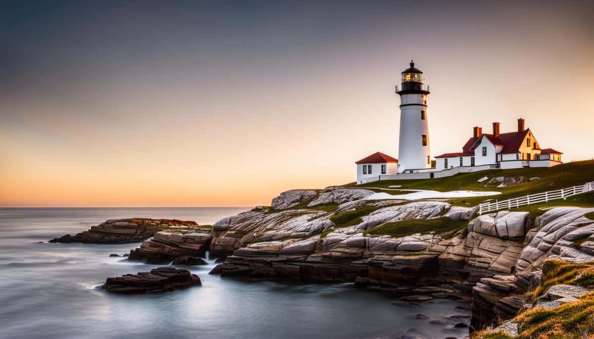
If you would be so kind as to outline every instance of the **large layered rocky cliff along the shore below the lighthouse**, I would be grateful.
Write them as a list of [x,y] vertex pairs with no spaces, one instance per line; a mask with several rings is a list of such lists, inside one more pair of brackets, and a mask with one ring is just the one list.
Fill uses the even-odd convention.
[[287,191],[271,207],[216,222],[210,234],[158,232],[130,258],[165,263],[208,249],[225,257],[211,272],[222,276],[353,282],[415,300],[472,295],[477,330],[532,307],[526,292],[543,288],[547,259],[594,260],[594,222],[584,216],[594,208],[557,207],[532,220],[516,211],[475,216],[443,201],[366,200],[371,194]]

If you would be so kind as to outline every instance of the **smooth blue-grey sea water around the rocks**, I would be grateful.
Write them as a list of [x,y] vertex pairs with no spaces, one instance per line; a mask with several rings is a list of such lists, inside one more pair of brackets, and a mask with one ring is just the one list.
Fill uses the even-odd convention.
[[[301,284],[209,276],[203,286],[154,295],[97,289],[106,277],[151,266],[109,254],[140,244],[49,244],[113,218],[177,218],[213,223],[237,207],[0,209],[0,338],[427,338],[463,337],[444,315],[467,315],[450,300],[419,308],[352,284]],[[44,243],[39,243],[39,242]],[[416,314],[429,319],[414,319]],[[408,330],[408,332],[406,332]]]

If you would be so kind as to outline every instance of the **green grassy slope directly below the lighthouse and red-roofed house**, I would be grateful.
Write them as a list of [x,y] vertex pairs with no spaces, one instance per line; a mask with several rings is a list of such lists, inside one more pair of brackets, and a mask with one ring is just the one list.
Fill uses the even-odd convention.
[[[522,176],[522,183],[510,187],[485,187],[484,183],[476,181],[482,177],[517,177]],[[529,178],[539,177],[540,180],[528,181]],[[523,194],[534,194],[560,188],[576,186],[588,181],[594,177],[594,161],[577,161],[567,164],[557,165],[551,168],[516,168],[516,169],[492,169],[489,171],[480,171],[474,173],[457,174],[453,177],[423,179],[423,180],[381,180],[372,183],[366,183],[355,186],[356,188],[365,187],[384,187],[391,185],[400,185],[403,189],[419,190],[473,190],[473,191],[500,191],[498,200],[509,199]],[[467,202],[477,204],[485,200],[485,197],[465,198]]]

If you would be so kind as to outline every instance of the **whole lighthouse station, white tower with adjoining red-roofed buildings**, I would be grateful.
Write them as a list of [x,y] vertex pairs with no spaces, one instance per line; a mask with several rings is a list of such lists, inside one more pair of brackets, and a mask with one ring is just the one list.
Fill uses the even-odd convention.
[[402,72],[400,95],[399,159],[376,152],[356,162],[357,184],[376,180],[450,177],[457,173],[523,167],[552,167],[561,162],[561,152],[541,149],[525,120],[517,120],[517,130],[500,133],[500,123],[493,123],[491,134],[474,127],[462,151],[435,156],[431,161],[427,95],[423,72],[410,67]]

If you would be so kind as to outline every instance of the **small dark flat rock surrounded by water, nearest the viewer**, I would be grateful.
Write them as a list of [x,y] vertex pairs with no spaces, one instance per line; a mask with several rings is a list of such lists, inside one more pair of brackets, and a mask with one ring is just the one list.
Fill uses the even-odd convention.
[[107,292],[132,294],[166,292],[197,285],[201,285],[200,278],[188,270],[159,267],[150,272],[108,278],[100,287]]

